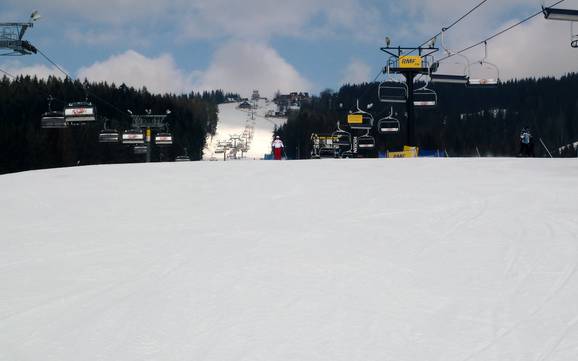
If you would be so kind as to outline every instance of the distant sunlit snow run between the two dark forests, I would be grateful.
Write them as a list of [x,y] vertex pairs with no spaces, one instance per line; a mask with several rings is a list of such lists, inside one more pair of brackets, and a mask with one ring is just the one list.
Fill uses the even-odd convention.
[[[273,141],[273,129],[275,125],[284,124],[286,118],[267,118],[268,111],[275,111],[277,106],[271,101],[261,99],[257,102],[257,109],[251,116],[250,110],[239,109],[239,103],[226,103],[219,105],[219,121],[217,133],[207,139],[207,146],[203,152],[204,159],[215,157],[222,160],[222,154],[215,154],[215,148],[220,140],[228,140],[231,135],[243,134],[247,124],[254,127],[251,147],[246,154],[247,159],[262,159],[265,154],[271,153]],[[239,153],[239,156],[241,154]]]

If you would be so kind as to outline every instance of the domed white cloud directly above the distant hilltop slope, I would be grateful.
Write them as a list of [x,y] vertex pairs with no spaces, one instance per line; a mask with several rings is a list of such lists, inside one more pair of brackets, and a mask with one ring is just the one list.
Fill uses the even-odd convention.
[[242,41],[218,49],[197,83],[198,89],[223,89],[247,96],[252,89],[272,96],[276,90],[310,91],[311,87],[273,48]]

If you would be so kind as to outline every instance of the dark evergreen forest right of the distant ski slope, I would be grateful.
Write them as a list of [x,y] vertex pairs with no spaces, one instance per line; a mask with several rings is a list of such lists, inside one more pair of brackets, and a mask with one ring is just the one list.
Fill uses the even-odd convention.
[[[377,122],[390,113],[390,105],[378,100],[378,83],[345,85],[338,92],[325,90],[289,115],[288,122],[276,130],[285,142],[290,158],[308,158],[312,133],[330,134],[336,123],[346,123],[347,113],[355,111],[356,100],[370,110]],[[558,147],[578,140],[578,74],[510,80],[495,88],[480,89],[451,84],[429,85],[438,96],[431,110],[416,108],[416,143],[422,149],[447,151],[450,156],[515,156],[519,135],[530,128],[537,156],[556,153]],[[394,106],[401,131],[382,135],[375,129],[378,152],[397,151],[406,139],[405,104]],[[557,154],[554,154],[556,156]],[[576,156],[575,152],[570,152]]]

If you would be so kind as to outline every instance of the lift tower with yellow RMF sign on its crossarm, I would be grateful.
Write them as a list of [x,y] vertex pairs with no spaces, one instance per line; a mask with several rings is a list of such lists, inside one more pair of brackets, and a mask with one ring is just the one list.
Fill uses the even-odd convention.
[[[390,61],[383,69],[384,73],[402,74],[407,85],[407,144],[415,147],[415,111],[414,111],[414,79],[417,75],[429,75],[433,64],[428,63],[428,57],[436,53],[439,48],[434,47],[432,40],[427,47],[403,48],[390,46],[390,39],[386,37],[386,46],[380,48],[381,51],[390,55]],[[417,55],[410,55],[417,50]]]

